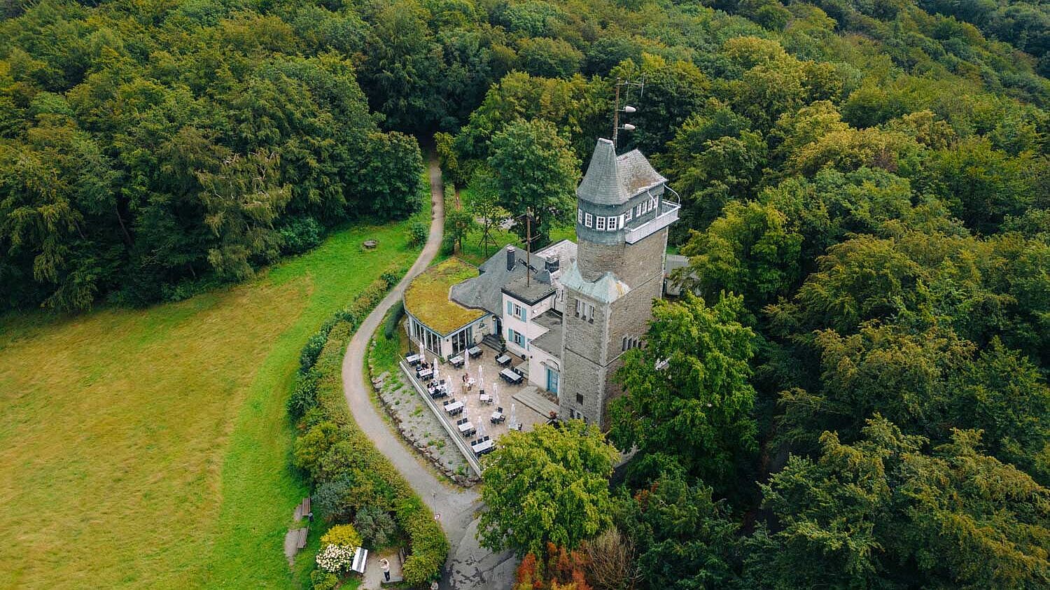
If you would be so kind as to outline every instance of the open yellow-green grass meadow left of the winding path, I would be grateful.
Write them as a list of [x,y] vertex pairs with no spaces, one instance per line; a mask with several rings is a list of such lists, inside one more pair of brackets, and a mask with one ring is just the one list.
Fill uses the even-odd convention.
[[406,226],[338,232],[187,301],[0,317],[0,587],[293,585],[299,349],[411,265]]

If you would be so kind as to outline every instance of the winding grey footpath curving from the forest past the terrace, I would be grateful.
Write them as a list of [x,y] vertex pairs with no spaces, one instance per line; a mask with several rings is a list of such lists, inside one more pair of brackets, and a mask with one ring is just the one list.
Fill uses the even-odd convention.
[[510,553],[494,554],[478,545],[476,539],[478,522],[475,515],[482,505],[478,492],[472,489],[461,489],[438,480],[423,460],[402,443],[398,435],[379,416],[369,396],[371,385],[365,375],[364,361],[372,335],[382,323],[387,310],[401,299],[408,282],[429,266],[441,247],[441,234],[445,222],[441,168],[438,167],[433,153],[428,156],[427,165],[433,204],[430,234],[412,269],[376,305],[369,317],[364,318],[351,339],[342,361],[343,395],[361,430],[408,480],[416,493],[435,514],[440,514],[441,527],[448,536],[450,546],[441,588],[450,590],[510,588],[513,568],[517,565]]

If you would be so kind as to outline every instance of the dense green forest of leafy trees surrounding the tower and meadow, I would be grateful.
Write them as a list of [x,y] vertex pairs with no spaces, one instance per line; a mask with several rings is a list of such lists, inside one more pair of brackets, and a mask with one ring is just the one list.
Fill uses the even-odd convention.
[[547,233],[644,79],[620,149],[681,195],[695,295],[656,303],[607,436],[491,456],[519,588],[1050,586],[1050,4],[0,10],[0,310],[185,298],[403,219],[421,144]]

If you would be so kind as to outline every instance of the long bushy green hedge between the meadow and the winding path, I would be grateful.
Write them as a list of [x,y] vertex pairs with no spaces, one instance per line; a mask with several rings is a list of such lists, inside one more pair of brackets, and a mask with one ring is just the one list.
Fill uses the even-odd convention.
[[346,310],[336,313],[307,342],[289,413],[301,433],[294,462],[315,486],[351,482],[353,504],[394,512],[410,551],[403,575],[411,585],[438,576],[448,554],[448,540],[434,514],[408,482],[358,428],[342,391],[342,360],[360,320],[375,308],[399,273],[384,273]]

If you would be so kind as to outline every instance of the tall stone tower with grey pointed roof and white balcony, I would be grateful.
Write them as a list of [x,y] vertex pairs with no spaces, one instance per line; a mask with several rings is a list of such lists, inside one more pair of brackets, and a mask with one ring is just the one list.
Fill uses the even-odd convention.
[[597,141],[576,189],[576,262],[561,278],[563,418],[608,427],[607,405],[621,393],[613,374],[645,335],[663,291],[667,228],[679,208],[665,201],[666,190],[642,152],[616,155],[611,141]]

